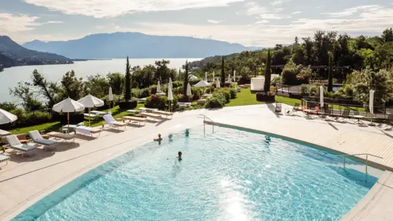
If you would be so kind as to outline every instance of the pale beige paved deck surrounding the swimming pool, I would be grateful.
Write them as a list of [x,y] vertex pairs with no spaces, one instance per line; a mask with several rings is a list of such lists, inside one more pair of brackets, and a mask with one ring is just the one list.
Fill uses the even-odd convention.
[[388,170],[342,220],[393,220],[390,202],[393,199],[393,173],[390,172],[393,171],[393,132],[373,126],[289,116],[284,114],[286,108],[290,106],[283,105],[283,113],[279,115],[274,113],[274,104],[185,111],[175,113],[170,120],[150,121],[143,127],[128,126],[126,131],[107,129],[96,139],[78,135],[76,144],[62,144],[48,151],[39,147],[30,157],[22,158],[8,149],[6,155],[10,155],[10,162],[7,166],[0,164],[0,220],[12,219],[79,175],[151,142],[158,133],[165,138],[170,133],[203,126],[201,115],[216,124],[280,135],[339,153],[370,153],[383,157],[368,158],[371,164]]

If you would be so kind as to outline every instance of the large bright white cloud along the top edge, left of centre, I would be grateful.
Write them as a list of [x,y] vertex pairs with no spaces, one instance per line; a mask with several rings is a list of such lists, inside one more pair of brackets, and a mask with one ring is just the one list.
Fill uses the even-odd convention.
[[135,12],[182,10],[186,8],[208,8],[228,6],[244,0],[23,0],[68,15],[86,15],[96,18],[117,17]]

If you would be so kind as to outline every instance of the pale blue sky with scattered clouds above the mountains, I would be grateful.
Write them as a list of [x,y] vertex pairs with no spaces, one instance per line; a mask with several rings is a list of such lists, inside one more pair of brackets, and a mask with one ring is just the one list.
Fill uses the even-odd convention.
[[142,32],[270,47],[316,30],[381,35],[393,0],[0,0],[0,35],[22,44]]

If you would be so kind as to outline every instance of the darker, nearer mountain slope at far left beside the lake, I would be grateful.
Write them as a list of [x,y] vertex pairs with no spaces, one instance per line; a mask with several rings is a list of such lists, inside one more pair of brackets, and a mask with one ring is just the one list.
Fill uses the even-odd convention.
[[48,52],[38,52],[23,48],[8,36],[0,35],[0,66],[72,64],[71,59]]

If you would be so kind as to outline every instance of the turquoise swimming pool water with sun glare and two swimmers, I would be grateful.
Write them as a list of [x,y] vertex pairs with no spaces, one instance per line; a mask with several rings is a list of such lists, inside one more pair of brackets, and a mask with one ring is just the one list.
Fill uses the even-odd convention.
[[164,138],[85,173],[14,220],[339,220],[377,180],[344,170],[332,153],[231,128]]

